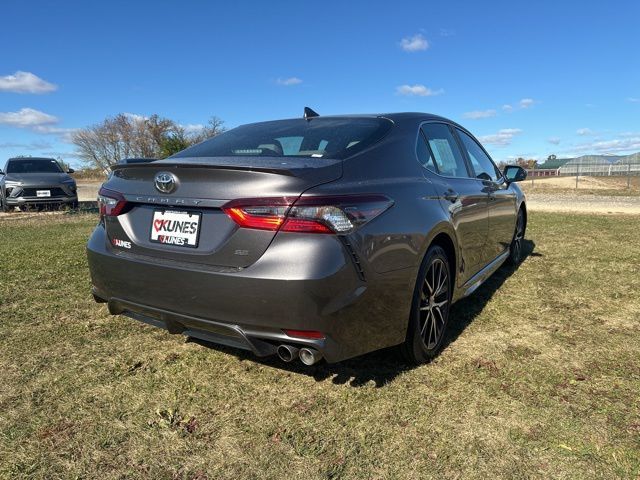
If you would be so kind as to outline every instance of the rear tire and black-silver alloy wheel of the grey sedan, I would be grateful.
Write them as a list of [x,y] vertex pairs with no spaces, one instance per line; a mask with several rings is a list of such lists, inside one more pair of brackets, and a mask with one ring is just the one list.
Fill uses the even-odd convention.
[[453,279],[446,252],[429,248],[422,261],[413,292],[407,338],[400,347],[410,363],[426,363],[442,348],[449,325]]

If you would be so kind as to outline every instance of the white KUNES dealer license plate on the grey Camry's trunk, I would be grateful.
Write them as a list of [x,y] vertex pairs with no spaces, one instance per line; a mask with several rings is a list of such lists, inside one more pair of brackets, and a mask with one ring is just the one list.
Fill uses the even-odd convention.
[[156,210],[151,220],[150,240],[164,245],[196,248],[200,213]]

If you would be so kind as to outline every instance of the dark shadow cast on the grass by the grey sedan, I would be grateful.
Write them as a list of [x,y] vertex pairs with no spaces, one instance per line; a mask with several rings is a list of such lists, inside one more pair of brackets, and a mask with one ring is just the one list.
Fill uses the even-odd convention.
[[[534,249],[534,242],[531,240],[524,241],[523,262],[528,257],[542,256],[540,253],[535,252]],[[460,300],[451,308],[449,329],[443,350],[464,332],[467,326],[482,312],[493,294],[517,269],[518,267],[503,265],[472,295]],[[384,387],[403,372],[416,368],[415,365],[404,361],[395,347],[378,350],[340,363],[328,364],[321,361],[316,365],[307,367],[298,361],[285,363],[277,356],[261,358],[244,350],[212,344],[204,340],[190,338],[189,341],[234,355],[243,361],[256,362],[279,370],[307,375],[318,382],[331,378],[331,381],[336,385],[349,384],[352,387],[365,386],[369,382],[373,382],[376,388]]]

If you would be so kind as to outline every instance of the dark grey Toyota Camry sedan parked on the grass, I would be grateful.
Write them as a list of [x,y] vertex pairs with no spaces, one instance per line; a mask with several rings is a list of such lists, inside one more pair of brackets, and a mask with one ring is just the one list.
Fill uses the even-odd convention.
[[117,165],[88,243],[112,314],[311,365],[442,347],[451,304],[518,263],[514,183],[463,127],[423,113],[229,130]]

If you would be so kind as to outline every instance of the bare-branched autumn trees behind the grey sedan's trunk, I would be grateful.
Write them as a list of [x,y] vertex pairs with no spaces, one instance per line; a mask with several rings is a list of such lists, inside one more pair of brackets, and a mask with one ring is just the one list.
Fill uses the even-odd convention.
[[187,129],[159,115],[120,113],[76,130],[71,141],[89,168],[107,171],[125,158],[169,157],[224,131],[224,122],[218,117],[211,117],[202,128]]

